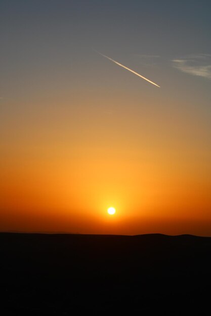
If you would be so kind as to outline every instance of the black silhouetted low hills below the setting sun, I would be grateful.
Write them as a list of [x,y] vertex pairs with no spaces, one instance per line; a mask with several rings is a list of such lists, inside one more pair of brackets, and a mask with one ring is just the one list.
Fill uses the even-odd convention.
[[0,234],[2,315],[209,315],[211,238]]

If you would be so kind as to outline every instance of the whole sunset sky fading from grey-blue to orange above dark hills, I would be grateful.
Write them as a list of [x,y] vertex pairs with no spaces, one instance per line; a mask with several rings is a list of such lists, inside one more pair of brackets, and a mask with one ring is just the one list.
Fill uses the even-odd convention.
[[0,231],[211,236],[210,10],[1,0]]

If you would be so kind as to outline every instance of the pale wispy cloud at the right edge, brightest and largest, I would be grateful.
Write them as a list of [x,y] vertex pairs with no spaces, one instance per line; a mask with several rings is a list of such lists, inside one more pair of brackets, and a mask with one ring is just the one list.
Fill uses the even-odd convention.
[[193,76],[211,79],[211,55],[189,55],[183,59],[174,59],[173,67]]

